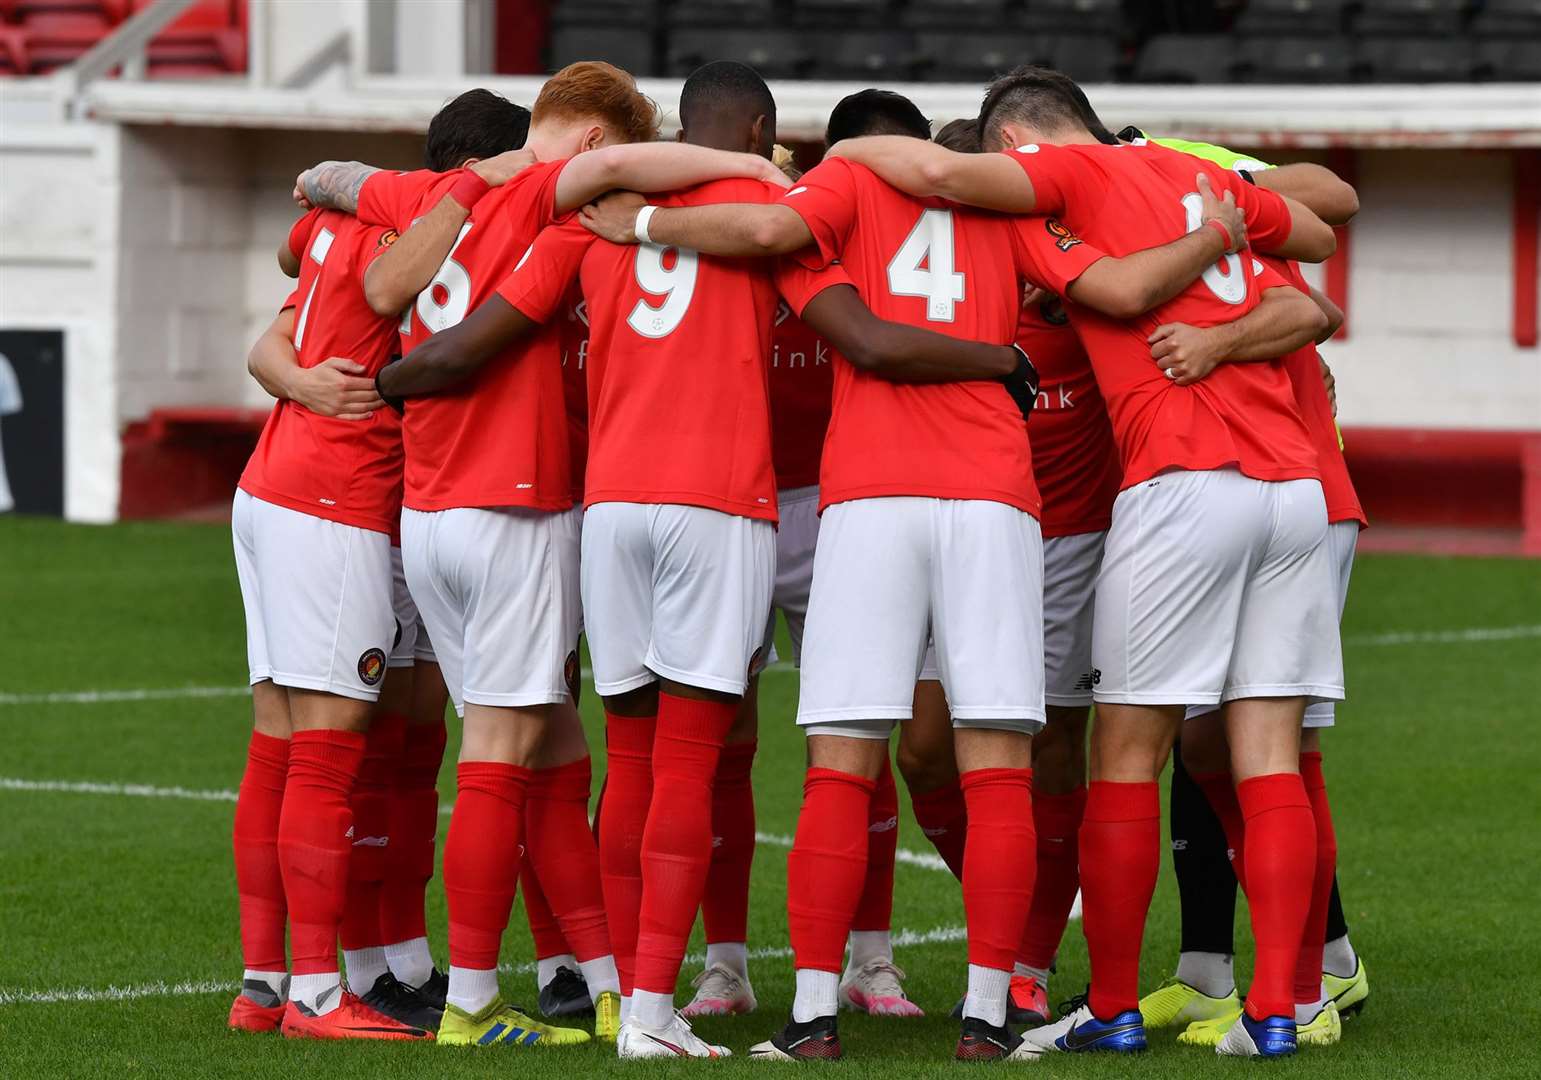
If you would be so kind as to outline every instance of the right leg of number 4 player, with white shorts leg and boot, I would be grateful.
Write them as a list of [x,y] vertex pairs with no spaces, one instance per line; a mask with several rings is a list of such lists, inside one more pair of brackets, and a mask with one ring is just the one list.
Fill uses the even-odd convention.
[[1032,735],[1043,727],[1043,539],[1000,502],[931,507],[931,629],[968,807],[963,911],[968,995],[955,1055],[1037,1051],[1006,1028],[1011,975],[1032,904]]

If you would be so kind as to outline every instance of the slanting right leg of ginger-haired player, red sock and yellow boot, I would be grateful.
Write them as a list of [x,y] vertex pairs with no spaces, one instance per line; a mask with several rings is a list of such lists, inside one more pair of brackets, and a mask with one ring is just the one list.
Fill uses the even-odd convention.
[[[576,687],[576,655],[572,670]],[[613,1038],[619,1026],[621,984],[604,914],[599,849],[589,826],[590,793],[589,744],[578,709],[570,701],[556,704],[530,781],[525,854],[533,875],[527,880],[539,881],[561,927],[561,940],[572,949],[596,1014],[596,1034]],[[541,986],[544,991],[547,983]]]

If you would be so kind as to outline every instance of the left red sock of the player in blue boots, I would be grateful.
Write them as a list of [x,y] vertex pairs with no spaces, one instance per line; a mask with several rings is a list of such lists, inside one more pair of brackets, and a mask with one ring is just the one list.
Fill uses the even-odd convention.
[[1102,1020],[1140,1003],[1140,941],[1160,870],[1156,781],[1094,780],[1080,826],[1082,927],[1091,954],[1091,1011]]

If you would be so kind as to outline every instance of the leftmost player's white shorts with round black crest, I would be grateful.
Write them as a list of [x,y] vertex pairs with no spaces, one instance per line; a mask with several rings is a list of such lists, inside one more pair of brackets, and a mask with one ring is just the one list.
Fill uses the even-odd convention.
[[393,636],[390,536],[240,490],[231,533],[251,681],[378,701]]

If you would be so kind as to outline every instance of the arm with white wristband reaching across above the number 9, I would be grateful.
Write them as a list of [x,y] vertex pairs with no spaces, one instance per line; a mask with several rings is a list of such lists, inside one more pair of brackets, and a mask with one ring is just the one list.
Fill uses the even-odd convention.
[[[584,206],[582,223],[612,243],[646,239],[713,256],[791,254],[814,242],[798,213],[783,203],[649,208],[641,196],[618,193]],[[640,237],[638,225],[646,237]]]

